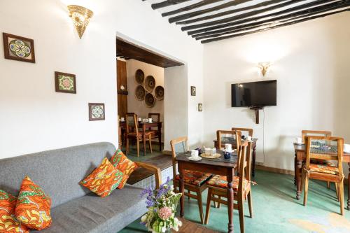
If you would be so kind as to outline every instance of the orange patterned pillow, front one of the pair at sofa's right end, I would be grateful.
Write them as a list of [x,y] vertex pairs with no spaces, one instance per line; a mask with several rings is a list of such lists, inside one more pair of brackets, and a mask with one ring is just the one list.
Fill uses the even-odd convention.
[[116,169],[111,162],[105,157],[102,164],[92,171],[80,185],[85,186],[91,192],[101,197],[107,197],[115,190],[123,179],[123,172]]

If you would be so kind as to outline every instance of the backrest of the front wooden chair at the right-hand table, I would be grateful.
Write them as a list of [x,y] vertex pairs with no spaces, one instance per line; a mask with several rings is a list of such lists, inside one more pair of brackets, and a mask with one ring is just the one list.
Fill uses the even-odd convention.
[[343,174],[343,147],[344,139],[335,136],[305,136],[306,144],[306,169],[309,169],[310,160],[334,160],[337,161],[339,175]]

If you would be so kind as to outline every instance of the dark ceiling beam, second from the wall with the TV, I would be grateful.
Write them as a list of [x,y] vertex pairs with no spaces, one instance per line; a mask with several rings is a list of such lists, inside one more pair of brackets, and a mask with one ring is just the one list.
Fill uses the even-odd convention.
[[204,32],[201,34],[195,34],[195,35],[193,35],[193,37],[195,37],[196,40],[200,40],[203,38],[223,36],[225,34],[232,34],[234,32],[246,31],[248,29],[262,27],[262,26],[265,26],[266,24],[273,24],[274,22],[281,23],[281,22],[287,22],[290,20],[297,20],[297,19],[300,19],[301,17],[310,17],[312,15],[316,15],[319,13],[325,13],[325,12],[330,11],[330,10],[337,10],[339,8],[344,8],[344,7],[348,7],[348,6],[350,6],[350,3],[343,3],[341,5],[332,6],[329,8],[316,7],[316,8],[311,8],[311,9],[307,9],[307,10],[297,11],[295,13],[290,13],[288,15],[282,15],[280,17],[274,17],[274,18],[269,18],[267,20],[252,22],[249,24],[240,24],[240,25],[237,25],[235,27],[226,27],[225,29],[219,29],[216,31],[207,31],[207,32]]

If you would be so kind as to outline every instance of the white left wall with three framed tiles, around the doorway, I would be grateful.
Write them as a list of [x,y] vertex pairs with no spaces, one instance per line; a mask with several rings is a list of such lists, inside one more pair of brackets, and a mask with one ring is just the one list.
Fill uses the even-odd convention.
[[[80,40],[66,3],[94,11]],[[15,8],[26,9],[26,13]],[[132,15],[132,20],[130,20]],[[186,63],[177,76],[183,92],[168,92],[165,108],[183,115],[165,120],[167,140],[188,134],[188,118],[197,111],[188,104],[189,85],[202,85],[202,45],[170,25],[147,1],[36,0],[0,1],[0,31],[33,38],[36,64],[0,57],[0,158],[97,141],[118,142],[116,100],[116,35],[171,55]],[[0,46],[0,54],[3,47]],[[54,71],[75,73],[77,94],[55,92]],[[165,81],[167,84],[173,80]],[[202,98],[202,97],[198,97]],[[201,99],[202,101],[202,99]],[[106,120],[88,121],[88,102],[106,104]],[[169,104],[169,106],[166,106]],[[202,118],[191,127],[202,130]],[[193,142],[197,134],[189,134]],[[169,149],[165,142],[165,149]]]

